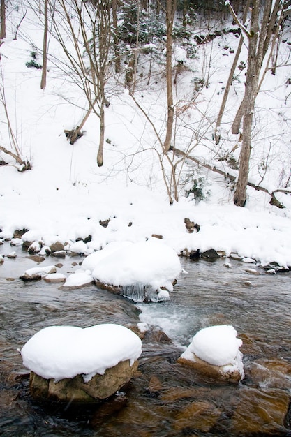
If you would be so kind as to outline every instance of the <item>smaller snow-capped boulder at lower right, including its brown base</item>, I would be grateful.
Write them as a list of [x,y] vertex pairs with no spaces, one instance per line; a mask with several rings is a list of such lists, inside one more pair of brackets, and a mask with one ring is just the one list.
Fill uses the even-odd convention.
[[239,382],[244,378],[242,353],[239,350],[241,344],[233,326],[207,327],[193,336],[178,362],[192,366],[207,376]]

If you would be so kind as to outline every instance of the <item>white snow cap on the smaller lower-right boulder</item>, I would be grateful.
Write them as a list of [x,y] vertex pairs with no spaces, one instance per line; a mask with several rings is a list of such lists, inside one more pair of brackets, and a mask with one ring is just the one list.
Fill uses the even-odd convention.
[[237,331],[231,325],[217,325],[201,329],[181,355],[186,360],[193,360],[193,353],[214,366],[224,366],[225,371],[232,368],[242,373],[242,354],[239,350],[241,339],[237,339]]

